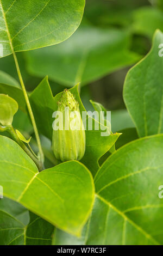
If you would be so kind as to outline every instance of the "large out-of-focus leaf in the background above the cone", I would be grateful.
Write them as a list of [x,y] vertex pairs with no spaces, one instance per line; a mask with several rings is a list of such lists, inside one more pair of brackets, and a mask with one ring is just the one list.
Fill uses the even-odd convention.
[[118,29],[81,27],[60,45],[26,53],[28,70],[68,87],[86,84],[139,60],[129,42],[129,34]]

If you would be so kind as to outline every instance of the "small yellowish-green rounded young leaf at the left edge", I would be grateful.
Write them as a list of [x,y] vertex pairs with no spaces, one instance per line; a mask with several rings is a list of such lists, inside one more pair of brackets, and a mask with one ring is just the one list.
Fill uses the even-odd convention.
[[11,125],[15,113],[18,111],[17,102],[5,94],[0,94],[0,123]]

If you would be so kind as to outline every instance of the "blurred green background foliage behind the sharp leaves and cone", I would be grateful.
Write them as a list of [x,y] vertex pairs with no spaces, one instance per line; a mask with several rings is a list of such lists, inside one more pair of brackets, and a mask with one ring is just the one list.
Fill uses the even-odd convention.
[[[69,39],[17,53],[26,88],[32,91],[46,75],[53,95],[81,82],[85,108],[92,109],[90,99],[102,103],[113,111],[113,120],[123,117],[112,130],[124,129],[124,78],[149,51],[157,28],[163,31],[162,0],[86,0],[83,21]],[[0,70],[18,81],[12,56],[0,59]],[[16,83],[2,71],[1,83]]]

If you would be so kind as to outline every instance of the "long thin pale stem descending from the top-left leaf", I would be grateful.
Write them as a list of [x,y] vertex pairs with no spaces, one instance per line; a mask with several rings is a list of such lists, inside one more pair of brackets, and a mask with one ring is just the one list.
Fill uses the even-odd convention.
[[13,51],[13,56],[14,56],[14,60],[15,60],[15,65],[16,65],[16,69],[17,69],[18,78],[20,80],[21,87],[22,87],[23,94],[24,94],[24,98],[25,98],[26,103],[27,103],[30,119],[31,119],[32,124],[33,124],[34,132],[35,132],[35,136],[36,136],[36,141],[37,141],[37,145],[38,145],[39,153],[40,153],[40,161],[41,161],[42,166],[43,166],[44,156],[43,156],[43,151],[42,151],[42,147],[41,147],[39,132],[37,130],[37,126],[36,126],[34,114],[33,114],[33,111],[32,111],[32,107],[30,106],[30,102],[29,102],[29,99],[28,99],[28,94],[27,94],[27,91],[26,91],[26,87],[24,86],[23,78],[22,78],[21,71],[20,71],[20,68],[19,68],[19,65],[18,65],[16,54],[15,54],[14,51]]

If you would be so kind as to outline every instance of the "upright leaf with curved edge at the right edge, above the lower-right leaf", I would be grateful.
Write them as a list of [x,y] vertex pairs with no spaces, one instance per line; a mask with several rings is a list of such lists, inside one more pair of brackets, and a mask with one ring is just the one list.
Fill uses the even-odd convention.
[[152,50],[129,70],[124,82],[124,101],[140,137],[163,131],[162,41],[163,34],[156,31]]

